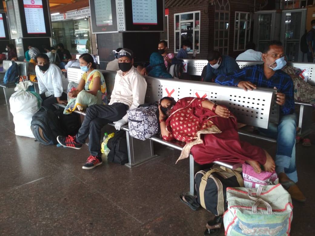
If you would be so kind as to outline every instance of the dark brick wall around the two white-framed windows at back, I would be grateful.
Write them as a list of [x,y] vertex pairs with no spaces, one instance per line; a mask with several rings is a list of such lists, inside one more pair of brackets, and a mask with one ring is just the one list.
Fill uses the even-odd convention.
[[[229,26],[229,56],[236,58],[238,54],[243,51],[233,51],[234,41],[234,20],[235,12],[254,12],[254,1],[253,0],[230,0],[230,26]],[[207,12],[208,9],[208,13]],[[200,11],[200,53],[197,54],[196,59],[206,59],[208,51],[213,50],[214,47],[214,22],[215,22],[215,5],[203,3],[188,5],[183,7],[169,8],[169,48],[170,51],[174,51],[174,14]],[[252,22],[251,27],[254,27]]]

